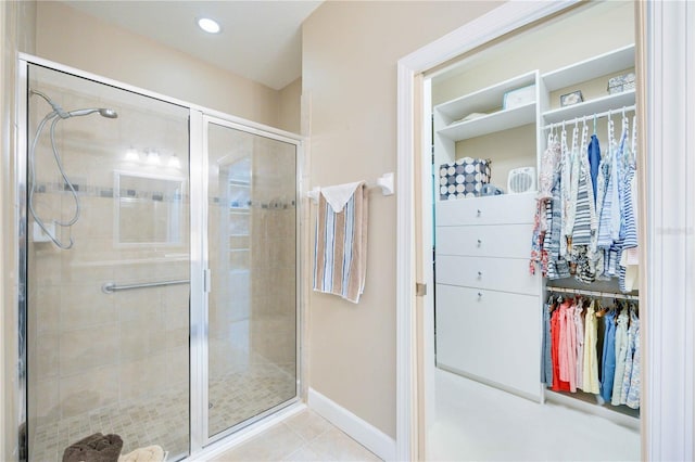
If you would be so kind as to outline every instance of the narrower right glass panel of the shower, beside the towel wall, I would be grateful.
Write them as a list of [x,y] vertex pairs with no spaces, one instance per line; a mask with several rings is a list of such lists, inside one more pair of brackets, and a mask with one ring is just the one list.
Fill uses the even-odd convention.
[[296,396],[296,145],[207,125],[207,436]]

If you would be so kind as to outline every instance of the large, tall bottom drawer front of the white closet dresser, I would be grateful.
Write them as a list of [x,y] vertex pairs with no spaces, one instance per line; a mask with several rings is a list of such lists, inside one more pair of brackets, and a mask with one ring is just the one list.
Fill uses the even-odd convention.
[[437,284],[437,364],[541,398],[540,298]]

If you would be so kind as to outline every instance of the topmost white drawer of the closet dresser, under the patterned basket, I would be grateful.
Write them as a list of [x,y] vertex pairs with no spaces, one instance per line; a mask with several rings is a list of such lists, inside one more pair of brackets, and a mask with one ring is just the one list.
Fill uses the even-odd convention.
[[533,223],[535,193],[458,198],[437,203],[437,224]]

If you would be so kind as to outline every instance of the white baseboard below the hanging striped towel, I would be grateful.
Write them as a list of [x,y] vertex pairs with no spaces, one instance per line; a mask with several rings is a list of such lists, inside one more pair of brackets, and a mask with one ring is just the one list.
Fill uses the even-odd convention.
[[384,461],[395,460],[395,439],[313,388],[308,407]]

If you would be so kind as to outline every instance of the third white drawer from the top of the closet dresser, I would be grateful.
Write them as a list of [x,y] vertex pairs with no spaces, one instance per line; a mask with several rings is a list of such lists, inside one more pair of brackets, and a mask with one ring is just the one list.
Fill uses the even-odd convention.
[[460,285],[517,294],[540,295],[539,274],[529,272],[529,260],[440,255],[434,274],[438,284]]

